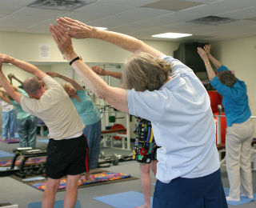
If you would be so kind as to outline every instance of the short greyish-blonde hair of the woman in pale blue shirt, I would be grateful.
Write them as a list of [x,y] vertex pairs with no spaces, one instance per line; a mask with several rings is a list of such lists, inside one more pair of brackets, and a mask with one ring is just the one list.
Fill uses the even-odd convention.
[[151,54],[134,54],[126,60],[122,73],[125,89],[136,91],[159,90],[172,72],[170,63]]

